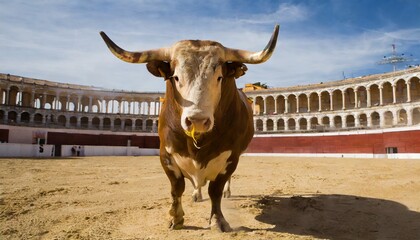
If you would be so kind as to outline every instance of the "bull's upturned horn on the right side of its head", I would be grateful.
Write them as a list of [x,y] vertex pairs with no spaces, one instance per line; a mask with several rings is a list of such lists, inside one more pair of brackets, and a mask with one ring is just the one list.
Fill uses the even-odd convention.
[[267,61],[273,54],[274,48],[276,48],[279,28],[280,28],[279,25],[276,24],[276,26],[274,27],[274,32],[271,35],[270,42],[268,42],[264,50],[259,51],[259,52],[250,52],[246,50],[226,48],[225,61],[251,63],[251,64],[258,64],[258,63],[263,63]]

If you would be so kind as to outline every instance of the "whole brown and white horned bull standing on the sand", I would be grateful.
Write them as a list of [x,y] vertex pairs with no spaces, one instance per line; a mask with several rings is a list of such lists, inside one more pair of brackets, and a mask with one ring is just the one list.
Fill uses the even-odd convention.
[[245,74],[244,63],[267,61],[276,46],[279,26],[260,52],[226,48],[218,42],[184,40],[171,47],[130,52],[101,36],[111,52],[166,81],[159,116],[160,161],[171,182],[170,228],[184,224],[182,194],[188,178],[195,188],[209,181],[210,226],[230,231],[221,210],[226,181],[254,134],[251,106],[236,87]]

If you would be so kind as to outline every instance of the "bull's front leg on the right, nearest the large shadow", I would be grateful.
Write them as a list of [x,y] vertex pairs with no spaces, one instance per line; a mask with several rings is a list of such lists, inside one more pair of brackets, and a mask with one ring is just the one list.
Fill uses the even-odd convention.
[[232,228],[223,216],[221,208],[223,188],[228,178],[226,175],[219,175],[215,181],[211,181],[209,184],[209,196],[211,199],[209,223],[212,229],[217,229],[221,232],[232,231]]

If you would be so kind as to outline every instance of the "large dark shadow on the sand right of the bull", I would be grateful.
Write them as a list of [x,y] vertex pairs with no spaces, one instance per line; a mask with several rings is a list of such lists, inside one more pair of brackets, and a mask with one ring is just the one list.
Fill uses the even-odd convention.
[[420,239],[420,213],[389,200],[349,195],[263,196],[256,220],[269,231],[326,239]]

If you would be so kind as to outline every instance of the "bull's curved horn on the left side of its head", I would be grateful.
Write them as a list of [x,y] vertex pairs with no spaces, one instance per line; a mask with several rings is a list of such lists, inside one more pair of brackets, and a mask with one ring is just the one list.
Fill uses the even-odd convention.
[[119,59],[129,63],[147,63],[150,61],[170,61],[168,48],[159,48],[142,52],[130,52],[120,48],[104,32],[100,32],[109,50]]

